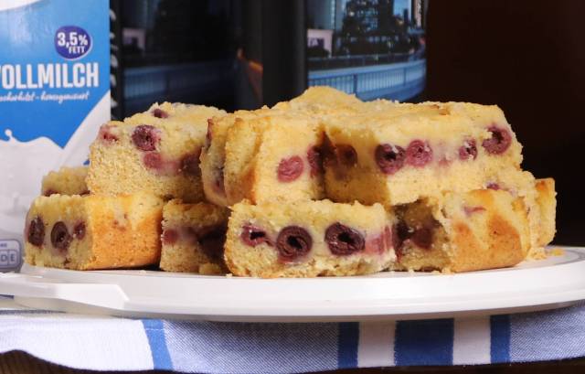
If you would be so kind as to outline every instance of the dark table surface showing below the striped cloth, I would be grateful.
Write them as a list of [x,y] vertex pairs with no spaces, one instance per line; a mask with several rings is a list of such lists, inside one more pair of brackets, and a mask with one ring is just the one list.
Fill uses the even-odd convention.
[[[34,358],[27,353],[15,351],[0,355],[0,374],[144,374],[144,373],[172,373],[172,371],[149,370],[149,371],[93,371],[69,369],[46,361]],[[457,367],[417,367],[417,368],[378,368],[378,369],[351,369],[324,371],[323,373],[335,374],[375,374],[375,373],[441,373],[441,374],[568,374],[584,373],[585,358],[567,359],[562,361],[548,361],[523,364],[505,365],[478,365],[478,366],[457,366]],[[173,372],[174,373],[174,372]]]

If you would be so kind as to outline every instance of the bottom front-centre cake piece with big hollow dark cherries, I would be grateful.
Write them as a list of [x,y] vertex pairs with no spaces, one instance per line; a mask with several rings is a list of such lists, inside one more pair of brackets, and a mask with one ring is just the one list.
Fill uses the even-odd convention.
[[232,207],[225,260],[240,276],[314,277],[380,272],[394,262],[381,205],[329,200]]

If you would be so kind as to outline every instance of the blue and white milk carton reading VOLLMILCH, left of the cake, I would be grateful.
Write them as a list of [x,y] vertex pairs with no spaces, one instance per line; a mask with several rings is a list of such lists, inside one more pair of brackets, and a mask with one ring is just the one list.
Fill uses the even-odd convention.
[[0,0],[0,270],[22,258],[42,176],[110,119],[108,0]]

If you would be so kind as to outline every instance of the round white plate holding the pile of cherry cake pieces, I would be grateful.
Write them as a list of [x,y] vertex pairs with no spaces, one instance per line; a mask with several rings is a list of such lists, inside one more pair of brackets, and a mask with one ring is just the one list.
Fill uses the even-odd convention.
[[78,272],[23,266],[0,294],[74,313],[216,321],[362,321],[526,312],[585,299],[585,248],[514,268],[445,275],[256,279],[174,272]]

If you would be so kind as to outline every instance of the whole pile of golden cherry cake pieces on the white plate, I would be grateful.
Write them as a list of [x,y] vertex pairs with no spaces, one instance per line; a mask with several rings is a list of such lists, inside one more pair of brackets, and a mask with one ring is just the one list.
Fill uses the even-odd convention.
[[554,180],[522,170],[496,106],[311,88],[226,113],[154,104],[46,176],[27,262],[313,277],[468,272],[544,254]]

